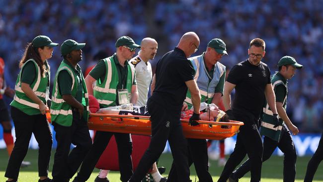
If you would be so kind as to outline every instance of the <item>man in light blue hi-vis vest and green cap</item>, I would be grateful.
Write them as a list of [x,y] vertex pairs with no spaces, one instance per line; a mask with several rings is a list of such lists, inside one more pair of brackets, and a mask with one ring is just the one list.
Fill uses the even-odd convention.
[[[198,50],[197,46],[195,51]],[[226,67],[221,64],[223,55],[228,55],[226,44],[219,38],[212,39],[203,52],[199,56],[188,58],[195,70],[194,80],[197,83],[201,95],[201,102],[219,104],[223,94],[224,82],[226,77]],[[191,93],[187,91],[185,102],[190,109],[192,107]],[[187,139],[189,157],[189,166],[194,163],[196,174],[200,182],[213,182],[212,176],[209,173],[209,158],[207,142],[205,139]],[[168,180],[176,179],[176,169],[171,168]],[[174,180],[176,181],[176,180]]]

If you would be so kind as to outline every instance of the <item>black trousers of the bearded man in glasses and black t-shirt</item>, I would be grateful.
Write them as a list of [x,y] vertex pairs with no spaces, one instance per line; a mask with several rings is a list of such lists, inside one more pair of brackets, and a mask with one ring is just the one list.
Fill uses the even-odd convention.
[[242,115],[242,113],[234,112],[234,116],[236,120],[243,121],[244,125],[240,127],[235,149],[224,166],[218,182],[226,182],[246,154],[250,160],[250,182],[259,182],[261,177],[263,147],[261,136],[257,128],[258,120],[253,115],[247,113]]

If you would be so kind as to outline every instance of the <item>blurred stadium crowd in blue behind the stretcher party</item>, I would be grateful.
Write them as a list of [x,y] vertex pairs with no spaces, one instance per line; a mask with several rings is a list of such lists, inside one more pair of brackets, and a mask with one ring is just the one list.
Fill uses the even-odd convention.
[[[196,55],[213,38],[227,44],[229,68],[247,58],[249,41],[266,42],[263,62],[271,73],[282,56],[293,56],[304,68],[288,87],[287,111],[301,132],[323,128],[323,6],[321,0],[0,0],[0,57],[13,86],[27,42],[39,35],[62,43],[85,42],[81,67],[92,65],[100,50],[109,55],[122,35],[136,43],[151,36],[159,43],[154,63],[176,46],[180,36],[200,37]],[[61,62],[59,48],[49,60],[52,78]]]

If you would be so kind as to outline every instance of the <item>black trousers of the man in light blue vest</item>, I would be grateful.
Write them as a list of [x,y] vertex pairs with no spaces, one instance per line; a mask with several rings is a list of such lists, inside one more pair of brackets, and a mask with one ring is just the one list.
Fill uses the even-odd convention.
[[[205,139],[188,138],[188,166],[194,163],[195,171],[199,182],[213,182],[212,176],[209,173],[209,157],[208,148]],[[177,171],[175,163],[171,165],[168,175],[168,182],[177,182]]]

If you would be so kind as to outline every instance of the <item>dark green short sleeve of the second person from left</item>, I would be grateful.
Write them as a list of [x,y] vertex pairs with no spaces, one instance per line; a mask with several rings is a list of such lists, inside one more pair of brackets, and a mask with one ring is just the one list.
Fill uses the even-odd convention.
[[58,87],[61,95],[72,94],[73,80],[67,70],[62,70],[58,74]]

